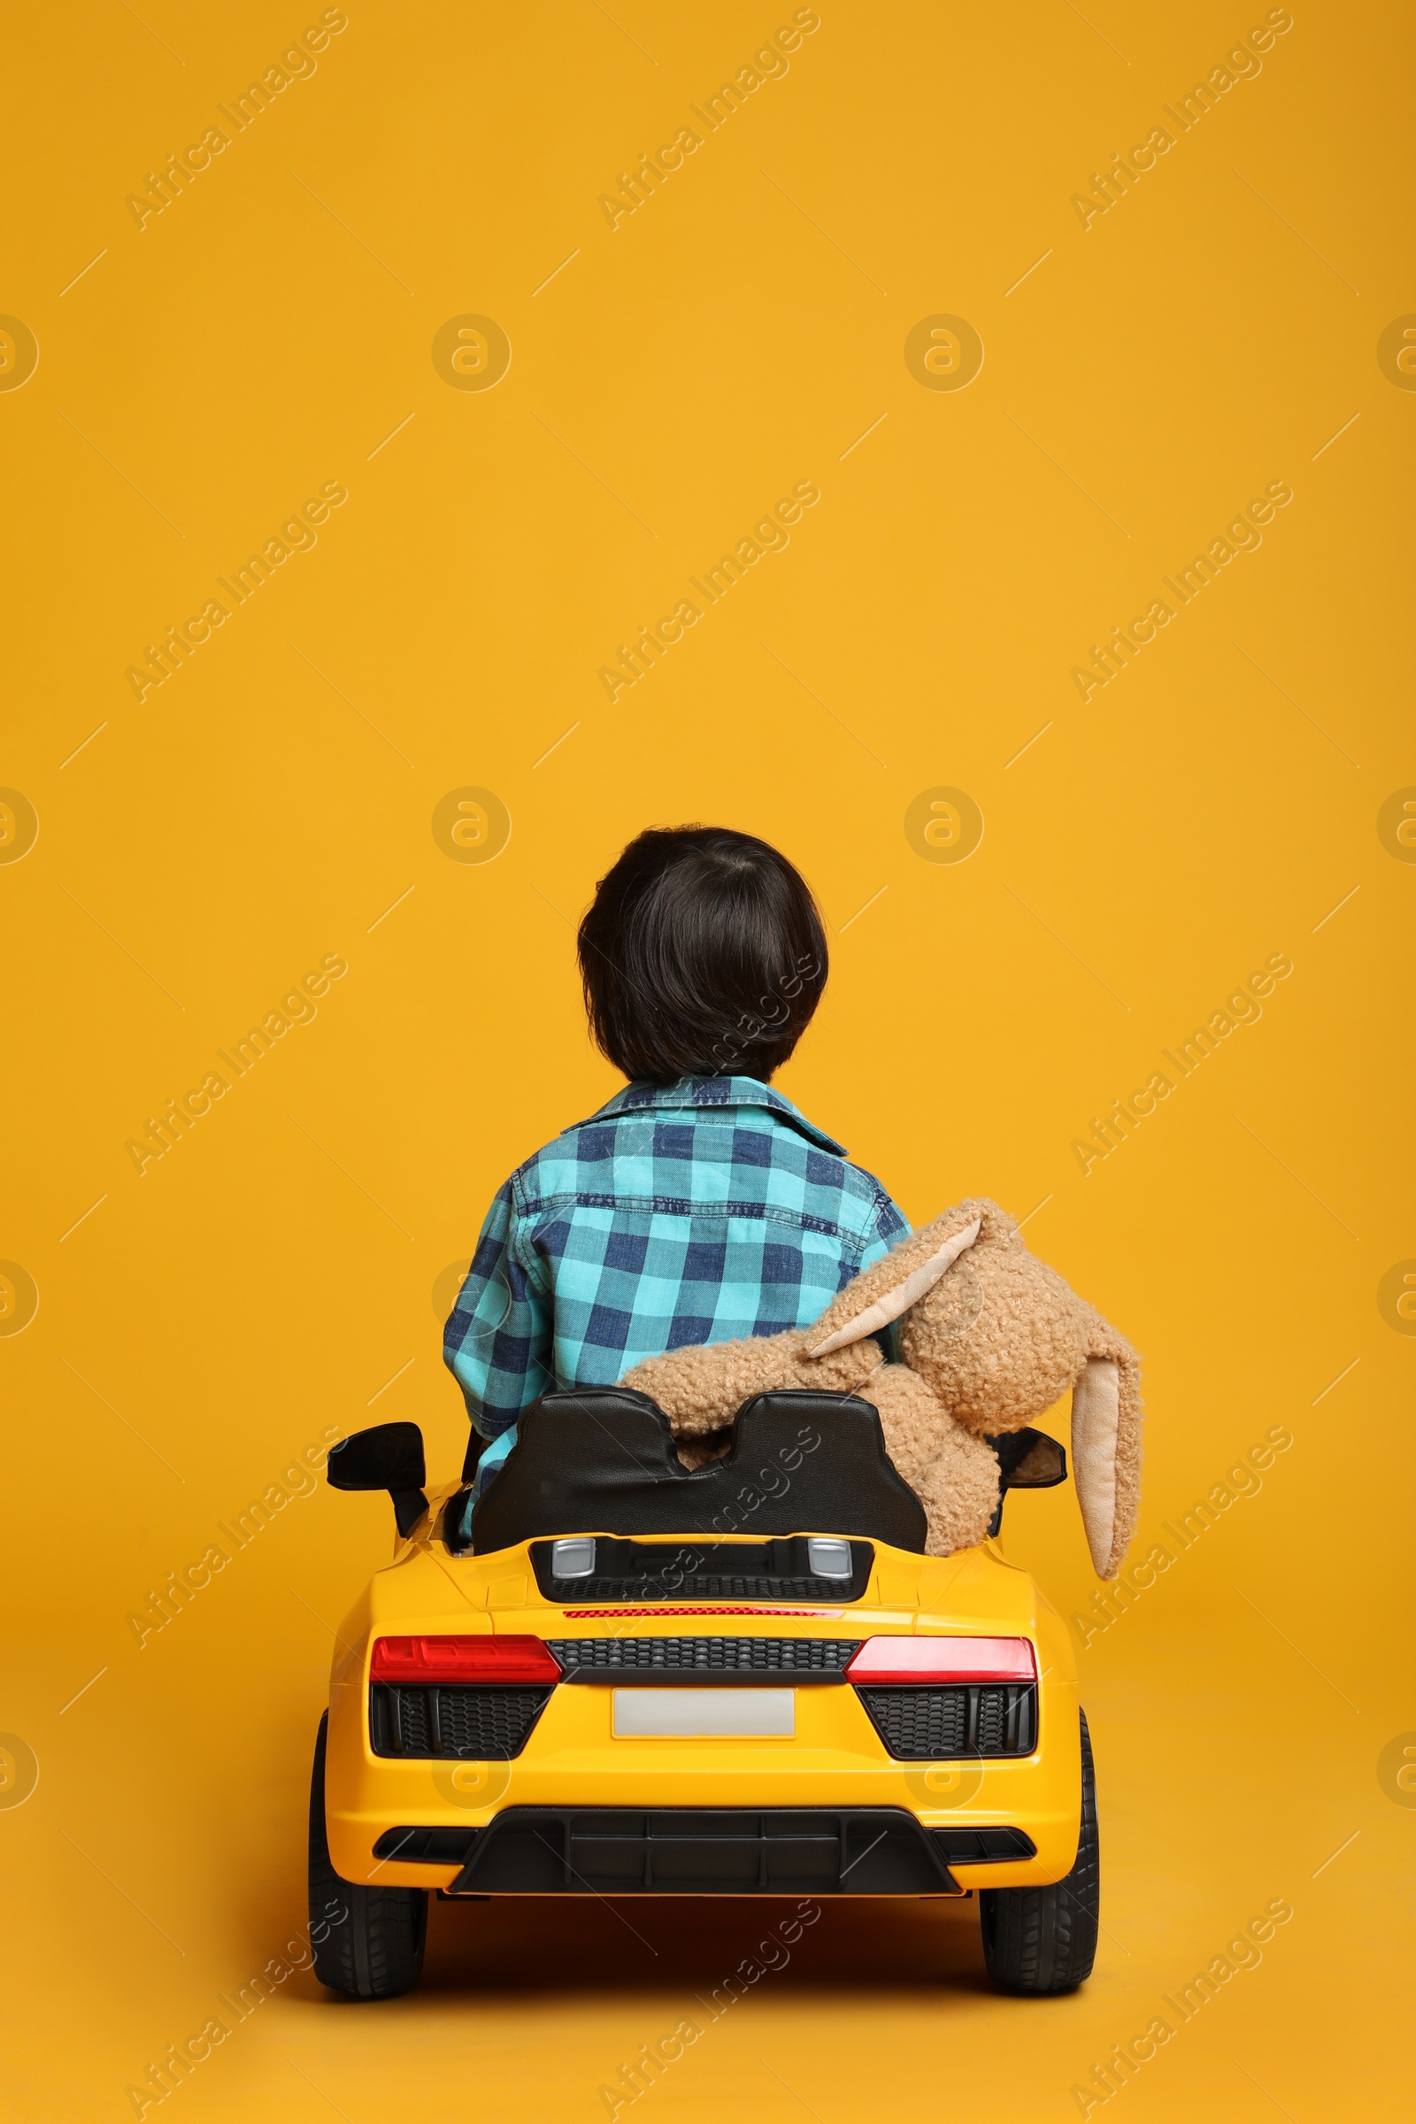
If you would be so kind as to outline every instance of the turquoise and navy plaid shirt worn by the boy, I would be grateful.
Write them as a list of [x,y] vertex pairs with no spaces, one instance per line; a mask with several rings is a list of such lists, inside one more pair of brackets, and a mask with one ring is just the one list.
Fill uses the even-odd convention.
[[807,1328],[906,1232],[879,1181],[756,1077],[631,1083],[499,1189],[444,1361],[499,1438],[552,1387]]

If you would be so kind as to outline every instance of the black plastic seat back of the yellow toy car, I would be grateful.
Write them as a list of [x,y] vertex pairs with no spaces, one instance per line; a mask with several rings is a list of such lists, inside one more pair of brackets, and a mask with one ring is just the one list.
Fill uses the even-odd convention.
[[694,1468],[647,1393],[543,1393],[471,1514],[478,1555],[556,1534],[843,1534],[923,1553],[926,1514],[851,1393],[758,1393]]

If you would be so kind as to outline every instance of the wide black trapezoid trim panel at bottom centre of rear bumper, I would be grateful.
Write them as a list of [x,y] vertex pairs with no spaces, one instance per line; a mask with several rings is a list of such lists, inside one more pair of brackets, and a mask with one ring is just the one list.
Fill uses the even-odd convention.
[[904,1808],[505,1808],[450,1895],[962,1895]]

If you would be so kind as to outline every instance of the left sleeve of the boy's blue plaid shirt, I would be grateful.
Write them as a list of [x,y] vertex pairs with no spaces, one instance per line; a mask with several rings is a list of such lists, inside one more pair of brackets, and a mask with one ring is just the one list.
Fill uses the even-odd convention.
[[[484,1438],[510,1429],[522,1408],[554,1387],[552,1300],[522,1249],[512,1181],[486,1213],[467,1281],[444,1330],[442,1357]],[[531,1264],[531,1266],[529,1266]]]

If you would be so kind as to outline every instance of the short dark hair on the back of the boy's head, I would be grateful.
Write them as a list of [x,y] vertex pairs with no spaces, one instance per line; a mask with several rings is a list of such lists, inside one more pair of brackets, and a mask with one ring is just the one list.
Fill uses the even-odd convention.
[[652,828],[594,888],[580,977],[597,1047],[633,1081],[781,1068],[826,988],[805,879],[728,826]]

